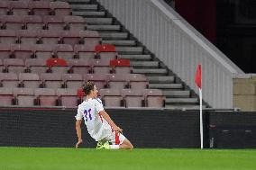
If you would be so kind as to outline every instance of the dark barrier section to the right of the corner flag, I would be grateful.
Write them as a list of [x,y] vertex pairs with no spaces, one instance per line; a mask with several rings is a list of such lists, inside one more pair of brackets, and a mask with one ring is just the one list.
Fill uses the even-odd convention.
[[256,148],[256,112],[211,112],[210,148]]

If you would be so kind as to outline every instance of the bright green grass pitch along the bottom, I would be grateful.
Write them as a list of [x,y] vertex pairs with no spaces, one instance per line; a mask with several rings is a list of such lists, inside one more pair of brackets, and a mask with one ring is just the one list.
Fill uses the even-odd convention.
[[255,150],[0,148],[0,170],[255,170]]

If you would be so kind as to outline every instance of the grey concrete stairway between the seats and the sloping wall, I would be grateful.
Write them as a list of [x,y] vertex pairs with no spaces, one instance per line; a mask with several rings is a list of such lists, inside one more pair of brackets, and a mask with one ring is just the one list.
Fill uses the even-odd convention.
[[66,0],[66,2],[70,4],[73,15],[86,18],[87,30],[99,31],[103,44],[113,44],[119,58],[131,60],[133,73],[147,76],[149,88],[162,90],[166,96],[166,108],[198,109],[197,95],[129,31],[125,30],[103,6],[93,0]]

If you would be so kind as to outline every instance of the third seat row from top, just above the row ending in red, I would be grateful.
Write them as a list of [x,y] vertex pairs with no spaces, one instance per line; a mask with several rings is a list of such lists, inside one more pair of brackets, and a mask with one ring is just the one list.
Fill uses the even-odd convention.
[[94,49],[101,40],[102,39],[97,31],[0,30],[1,44],[70,44],[72,46],[76,44],[84,44],[87,46],[87,49]]

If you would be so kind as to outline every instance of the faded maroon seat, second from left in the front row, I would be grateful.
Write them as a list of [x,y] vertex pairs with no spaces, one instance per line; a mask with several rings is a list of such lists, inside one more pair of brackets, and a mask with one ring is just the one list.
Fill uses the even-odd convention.
[[31,88],[14,88],[15,104],[19,106],[33,106],[35,95]]

